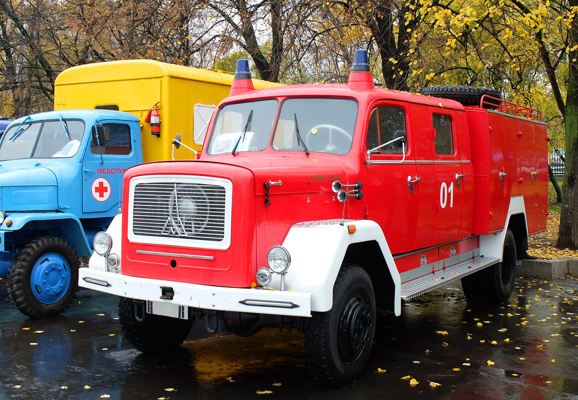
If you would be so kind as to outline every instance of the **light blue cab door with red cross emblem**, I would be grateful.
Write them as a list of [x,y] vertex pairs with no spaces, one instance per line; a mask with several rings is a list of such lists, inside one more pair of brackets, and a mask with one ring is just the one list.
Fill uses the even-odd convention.
[[136,164],[136,150],[128,122],[103,122],[100,146],[90,141],[83,159],[82,211],[116,214],[122,200],[124,171]]

